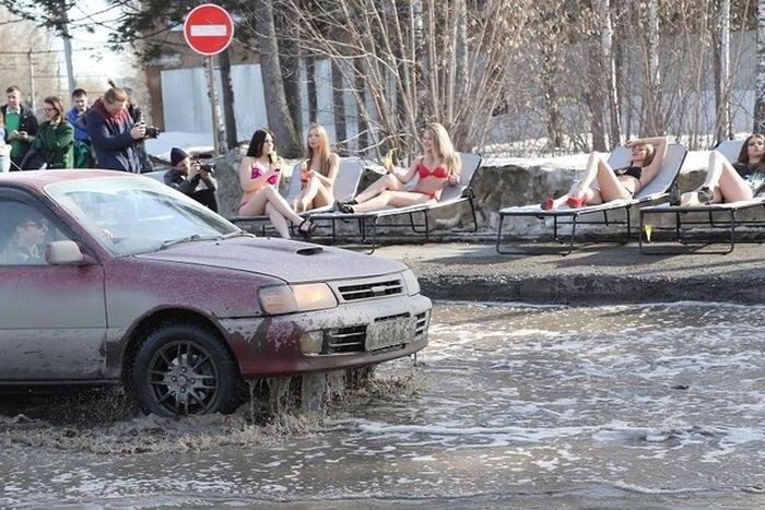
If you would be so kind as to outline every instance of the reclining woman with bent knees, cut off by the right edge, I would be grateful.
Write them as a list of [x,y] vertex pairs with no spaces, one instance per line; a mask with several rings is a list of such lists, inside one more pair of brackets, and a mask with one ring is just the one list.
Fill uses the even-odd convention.
[[765,135],[752,134],[745,141],[735,163],[717,151],[709,154],[707,177],[696,191],[683,193],[672,205],[708,205],[710,203],[751,200],[765,187]]

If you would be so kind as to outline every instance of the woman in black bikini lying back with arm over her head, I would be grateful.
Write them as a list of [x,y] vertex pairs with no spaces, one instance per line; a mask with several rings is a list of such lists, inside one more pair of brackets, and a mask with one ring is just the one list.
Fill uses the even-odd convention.
[[[597,205],[612,200],[629,200],[659,174],[667,154],[667,139],[655,137],[626,143],[632,150],[632,161],[623,168],[611,168],[598,153],[590,154],[585,167],[585,178],[577,189],[557,199],[549,198],[542,209]],[[597,186],[592,186],[595,180]]]

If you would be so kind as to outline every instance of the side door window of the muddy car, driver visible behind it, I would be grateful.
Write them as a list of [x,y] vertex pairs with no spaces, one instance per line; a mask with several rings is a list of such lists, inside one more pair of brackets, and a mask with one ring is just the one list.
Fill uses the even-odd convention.
[[0,200],[0,265],[46,265],[45,246],[68,239],[50,216],[24,202]]

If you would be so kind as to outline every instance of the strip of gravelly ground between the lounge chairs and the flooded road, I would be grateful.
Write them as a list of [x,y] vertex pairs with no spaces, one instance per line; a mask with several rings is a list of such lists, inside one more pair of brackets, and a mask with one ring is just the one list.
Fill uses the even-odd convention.
[[554,304],[765,303],[765,247],[729,254],[646,256],[636,244],[590,245],[567,257],[501,256],[487,244],[382,246],[434,299]]

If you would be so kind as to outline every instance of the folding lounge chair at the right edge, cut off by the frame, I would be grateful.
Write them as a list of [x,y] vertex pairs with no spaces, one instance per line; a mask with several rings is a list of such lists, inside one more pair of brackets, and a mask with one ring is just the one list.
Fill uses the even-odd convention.
[[[741,145],[743,140],[726,140],[721,142],[716,151],[722,153],[726,158],[730,162],[735,162],[741,152]],[[644,207],[640,210],[640,237],[639,246],[640,252],[645,254],[680,254],[688,252],[698,253],[719,253],[726,254],[733,251],[735,248],[735,228],[737,226],[762,226],[765,222],[763,221],[746,221],[740,220],[737,214],[739,211],[744,211],[746,209],[753,207],[765,207],[765,197],[755,197],[752,200],[741,200],[738,202],[728,203],[715,203],[710,205],[655,205],[650,207]],[[697,213],[697,214],[694,214]],[[650,225],[650,217],[654,215],[671,215],[674,217],[674,227],[663,227],[663,226],[651,226],[652,232],[673,229],[674,239],[682,244],[682,246],[674,246],[664,248],[661,245],[650,245],[644,241],[644,232],[646,225]],[[704,218],[704,220],[702,220]],[[658,220],[658,218],[657,218]],[[713,230],[721,232],[727,230],[728,236],[725,239],[727,247],[720,250],[698,250],[698,248],[707,245],[713,245],[715,242],[722,242],[714,239],[713,236],[708,235],[706,237],[701,236],[699,240],[694,240],[687,236],[683,236],[683,226],[693,228],[698,225],[706,225]],[[698,234],[698,233],[697,233]],[[713,234],[713,233],[708,233]],[[756,240],[755,240],[756,241]],[[741,242],[741,241],[740,241]],[[756,241],[762,242],[762,240]]]

